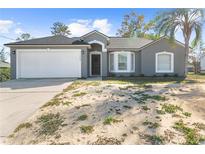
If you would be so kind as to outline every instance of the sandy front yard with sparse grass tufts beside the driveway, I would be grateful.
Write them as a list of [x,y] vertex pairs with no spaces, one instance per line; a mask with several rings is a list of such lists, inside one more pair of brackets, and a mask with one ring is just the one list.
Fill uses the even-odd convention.
[[[43,124],[50,128],[48,121],[55,130],[50,135],[43,129],[45,135],[39,136],[42,123],[36,121],[51,114],[53,121],[44,118]],[[180,119],[204,137],[205,85],[77,81],[30,117],[26,123],[31,127],[14,132],[6,143],[189,144],[187,134],[173,128]]]

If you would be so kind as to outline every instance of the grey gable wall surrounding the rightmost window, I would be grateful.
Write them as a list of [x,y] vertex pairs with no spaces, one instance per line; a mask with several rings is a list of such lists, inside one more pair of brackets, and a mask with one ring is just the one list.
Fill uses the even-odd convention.
[[141,73],[145,76],[161,76],[165,74],[155,72],[155,54],[162,51],[174,53],[174,72],[166,74],[184,76],[185,49],[181,45],[171,44],[167,39],[162,39],[161,41],[142,49]]

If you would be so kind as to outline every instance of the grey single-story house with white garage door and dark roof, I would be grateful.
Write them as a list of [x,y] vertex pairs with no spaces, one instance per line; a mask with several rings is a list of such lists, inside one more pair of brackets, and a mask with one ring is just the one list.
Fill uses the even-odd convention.
[[12,79],[90,76],[184,76],[184,44],[144,38],[109,37],[92,31],[5,44],[11,50]]

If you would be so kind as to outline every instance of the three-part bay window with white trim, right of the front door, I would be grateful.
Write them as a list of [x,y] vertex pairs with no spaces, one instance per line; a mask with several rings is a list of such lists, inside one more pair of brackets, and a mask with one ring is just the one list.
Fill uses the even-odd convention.
[[134,72],[135,54],[130,51],[111,52],[109,69],[110,72]]

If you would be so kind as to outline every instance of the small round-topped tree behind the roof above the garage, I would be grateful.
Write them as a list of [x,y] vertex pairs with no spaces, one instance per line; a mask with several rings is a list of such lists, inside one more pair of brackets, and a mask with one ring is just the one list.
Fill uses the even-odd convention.
[[53,35],[64,35],[64,36],[71,35],[69,27],[62,22],[55,22],[51,27],[51,33]]

